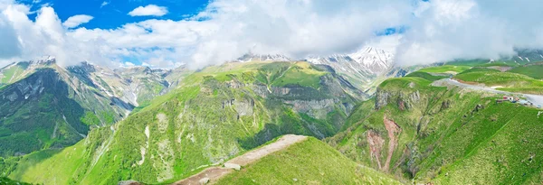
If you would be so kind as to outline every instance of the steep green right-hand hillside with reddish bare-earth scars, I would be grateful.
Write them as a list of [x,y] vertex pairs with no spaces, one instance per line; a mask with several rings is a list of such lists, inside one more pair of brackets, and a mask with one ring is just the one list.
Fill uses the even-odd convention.
[[356,162],[415,182],[540,183],[538,110],[434,87],[438,79],[421,71],[386,80],[349,116],[352,126],[327,141]]

